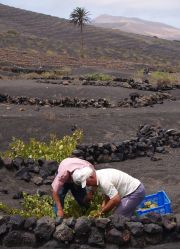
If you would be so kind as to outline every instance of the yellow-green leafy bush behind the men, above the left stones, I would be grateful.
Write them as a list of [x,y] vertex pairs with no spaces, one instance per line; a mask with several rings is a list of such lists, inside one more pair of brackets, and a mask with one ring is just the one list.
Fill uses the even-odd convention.
[[70,156],[76,148],[77,143],[82,139],[83,132],[76,130],[71,136],[64,136],[58,139],[56,135],[51,135],[48,142],[40,142],[35,138],[30,138],[28,143],[21,139],[13,138],[9,145],[9,150],[2,153],[3,158],[33,158],[45,160],[55,160],[61,162]]

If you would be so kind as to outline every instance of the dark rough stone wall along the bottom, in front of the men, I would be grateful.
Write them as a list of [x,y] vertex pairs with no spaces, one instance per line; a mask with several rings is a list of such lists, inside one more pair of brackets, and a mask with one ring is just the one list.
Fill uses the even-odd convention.
[[0,216],[0,244],[31,248],[144,248],[180,240],[180,216],[68,219]]

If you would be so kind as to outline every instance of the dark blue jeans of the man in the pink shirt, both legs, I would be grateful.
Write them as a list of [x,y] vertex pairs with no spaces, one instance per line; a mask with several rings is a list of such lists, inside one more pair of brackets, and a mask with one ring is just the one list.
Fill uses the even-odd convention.
[[[86,188],[82,188],[81,186],[76,185],[75,183],[65,183],[58,193],[62,208],[64,208],[64,199],[69,190],[71,191],[71,194],[73,195],[74,199],[77,201],[80,207],[88,207],[89,203],[86,203],[84,201],[87,194]],[[57,214],[56,204],[54,205],[53,210],[55,214]]]

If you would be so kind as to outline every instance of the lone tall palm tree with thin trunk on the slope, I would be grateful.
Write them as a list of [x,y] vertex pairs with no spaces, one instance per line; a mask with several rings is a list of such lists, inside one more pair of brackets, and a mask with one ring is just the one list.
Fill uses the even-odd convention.
[[84,39],[83,39],[83,26],[90,22],[89,11],[85,8],[77,7],[70,14],[70,22],[78,25],[81,31],[81,57],[84,57]]

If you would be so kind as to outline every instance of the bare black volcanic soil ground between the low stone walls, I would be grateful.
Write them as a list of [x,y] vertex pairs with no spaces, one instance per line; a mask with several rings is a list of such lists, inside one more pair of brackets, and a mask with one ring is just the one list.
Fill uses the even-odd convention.
[[[74,81],[73,81],[74,82]],[[50,104],[28,104],[27,102],[0,103],[0,150],[5,151],[12,137],[28,141],[37,138],[46,141],[51,133],[59,138],[72,134],[76,128],[83,130],[83,144],[118,143],[137,136],[140,127],[151,129],[179,130],[180,127],[180,89],[168,90],[172,99],[165,99],[147,106],[119,106],[117,103],[130,98],[134,93],[144,96],[153,94],[113,86],[91,86],[83,84],[51,84],[36,80],[1,80],[0,94],[3,96],[26,96],[41,100],[106,99],[111,106],[57,106]],[[91,102],[93,102],[91,101]],[[173,148],[174,147],[174,148]],[[180,213],[180,148],[165,146],[153,156],[136,156],[116,162],[96,162],[96,169],[116,168],[140,179],[147,194],[164,190],[172,202],[172,210]],[[14,173],[3,167],[0,169],[0,200],[12,207],[20,207],[19,200],[13,196],[19,191],[36,193],[37,189],[51,192],[50,185],[37,186],[32,182],[18,180]],[[180,244],[161,245],[162,248],[180,248]],[[161,248],[158,246],[158,248]],[[149,248],[156,248],[152,246]]]

